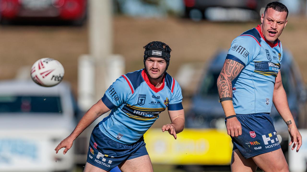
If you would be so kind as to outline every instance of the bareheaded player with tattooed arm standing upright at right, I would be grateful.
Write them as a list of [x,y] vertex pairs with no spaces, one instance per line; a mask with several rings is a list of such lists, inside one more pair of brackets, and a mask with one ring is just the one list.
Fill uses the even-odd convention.
[[227,133],[233,142],[232,171],[256,171],[257,166],[266,172],[289,171],[269,115],[272,103],[288,126],[289,146],[293,144],[292,150],[297,146],[298,151],[302,145],[280,71],[283,53],[278,37],[287,16],[282,3],[267,4],[261,24],[232,41],[218,77]]

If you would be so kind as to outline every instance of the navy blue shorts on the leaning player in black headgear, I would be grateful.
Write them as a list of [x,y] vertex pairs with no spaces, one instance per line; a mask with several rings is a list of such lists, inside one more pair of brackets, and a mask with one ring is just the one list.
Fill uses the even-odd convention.
[[144,138],[131,145],[121,144],[104,135],[96,125],[92,131],[87,162],[110,171],[125,160],[148,155]]

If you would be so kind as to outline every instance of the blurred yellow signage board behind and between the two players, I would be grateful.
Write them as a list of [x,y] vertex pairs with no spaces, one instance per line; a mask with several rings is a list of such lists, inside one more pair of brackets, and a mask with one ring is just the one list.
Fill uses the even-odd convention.
[[167,131],[149,129],[144,135],[152,163],[229,165],[232,143],[227,131],[184,129],[175,140]]

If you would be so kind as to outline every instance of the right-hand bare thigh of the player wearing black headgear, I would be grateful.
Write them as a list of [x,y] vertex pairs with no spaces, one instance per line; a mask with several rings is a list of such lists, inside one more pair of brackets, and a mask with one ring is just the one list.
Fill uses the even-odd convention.
[[129,159],[119,165],[122,172],[153,172],[149,155]]

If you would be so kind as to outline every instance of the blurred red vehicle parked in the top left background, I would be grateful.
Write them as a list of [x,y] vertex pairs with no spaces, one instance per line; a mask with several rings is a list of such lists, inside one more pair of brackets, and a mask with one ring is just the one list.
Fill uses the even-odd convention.
[[87,0],[0,0],[1,21],[55,19],[82,24]]

